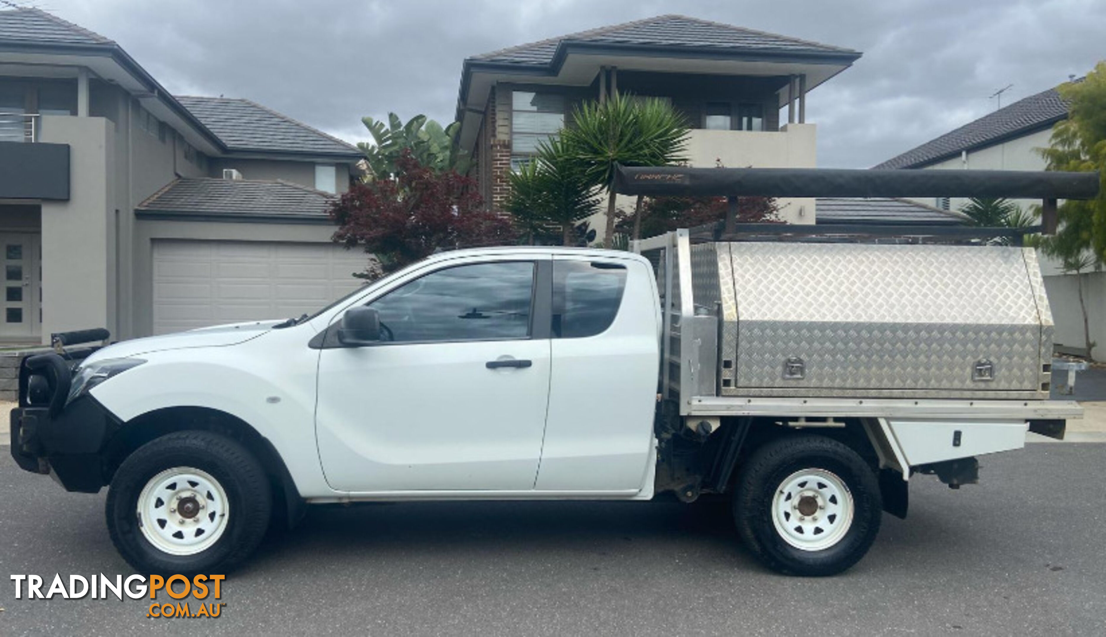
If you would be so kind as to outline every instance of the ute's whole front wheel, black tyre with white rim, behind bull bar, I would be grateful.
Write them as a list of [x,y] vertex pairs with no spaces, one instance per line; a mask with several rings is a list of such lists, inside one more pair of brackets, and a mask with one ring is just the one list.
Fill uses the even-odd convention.
[[261,464],[238,442],[177,432],[131,454],[107,491],[107,529],[147,573],[223,573],[257,549],[272,496]]

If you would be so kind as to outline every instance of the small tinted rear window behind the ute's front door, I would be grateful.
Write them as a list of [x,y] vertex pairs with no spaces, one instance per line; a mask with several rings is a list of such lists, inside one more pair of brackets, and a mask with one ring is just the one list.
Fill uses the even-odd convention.
[[626,266],[553,262],[553,338],[592,337],[614,322],[626,288]]

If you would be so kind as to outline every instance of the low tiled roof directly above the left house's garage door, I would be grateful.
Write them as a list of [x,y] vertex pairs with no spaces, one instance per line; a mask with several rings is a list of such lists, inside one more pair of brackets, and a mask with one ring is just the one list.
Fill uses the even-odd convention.
[[173,216],[328,222],[334,195],[286,181],[181,178],[138,204],[139,213]]

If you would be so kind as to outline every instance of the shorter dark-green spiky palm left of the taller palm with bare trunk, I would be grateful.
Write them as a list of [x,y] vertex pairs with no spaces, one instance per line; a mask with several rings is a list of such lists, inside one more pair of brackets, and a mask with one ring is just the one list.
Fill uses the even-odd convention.
[[533,243],[549,226],[561,231],[562,245],[575,243],[575,225],[595,214],[598,187],[588,182],[583,166],[557,138],[538,145],[538,156],[509,173],[507,210]]

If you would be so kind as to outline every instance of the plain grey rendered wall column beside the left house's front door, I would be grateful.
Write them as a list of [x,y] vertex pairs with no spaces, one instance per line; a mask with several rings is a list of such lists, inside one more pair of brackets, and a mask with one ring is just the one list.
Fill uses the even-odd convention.
[[115,125],[43,116],[43,141],[70,145],[69,201],[42,203],[42,335],[116,330]]

